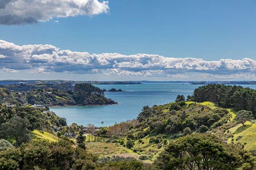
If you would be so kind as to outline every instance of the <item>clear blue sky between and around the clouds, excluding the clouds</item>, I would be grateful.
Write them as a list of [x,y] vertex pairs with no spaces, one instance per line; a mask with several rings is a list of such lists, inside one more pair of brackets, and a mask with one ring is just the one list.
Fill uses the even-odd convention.
[[[7,12],[12,13],[13,11]],[[198,77],[204,74],[206,76],[201,78],[205,80],[255,80],[256,1],[109,0],[108,13],[99,12],[92,15],[53,18],[44,22],[38,21],[36,24],[2,24],[0,25],[0,39],[14,43],[16,46],[51,44],[61,50],[90,54],[119,53],[127,55],[127,58],[137,53],[157,54],[165,58],[201,58],[205,67],[209,66],[209,64],[205,64],[206,61],[220,61],[220,59],[242,61],[244,58],[252,60],[249,65],[242,63],[241,68],[244,65],[249,67],[240,69],[242,71],[232,71],[232,68],[224,68],[224,71],[221,71],[222,66],[217,68],[217,71],[216,67],[210,68],[212,71],[198,71],[198,69],[184,71],[186,66],[182,70],[175,67],[176,70],[171,72],[170,70],[166,72],[166,66],[163,68],[150,67],[145,70],[141,67],[122,69],[124,68],[122,66],[118,67],[119,70],[115,73],[106,70],[110,69],[109,67],[101,71],[98,70],[99,72],[96,73],[92,73],[88,67],[56,71],[56,69],[46,68],[50,67],[49,65],[38,65],[31,66],[29,69],[21,69],[12,68],[2,61],[2,65],[0,65],[0,68],[2,66],[2,79],[8,77],[16,79],[22,74],[27,79],[32,79],[36,75],[43,79],[63,77],[79,80],[199,80]],[[43,59],[40,58],[40,60]],[[125,62],[128,61],[125,60]],[[132,63],[134,64],[134,61]],[[95,66],[95,63],[92,65]],[[134,65],[130,64],[129,67],[134,68]],[[41,70],[44,68],[47,71],[33,72],[38,68]],[[11,72],[10,69],[17,70],[17,72]],[[97,69],[97,67],[93,67],[93,69]],[[226,69],[228,69],[228,73],[223,73]],[[124,70],[137,73],[123,72],[119,74]],[[162,70],[163,73],[157,74],[156,70],[158,72]],[[145,71],[149,71],[151,75],[145,76]],[[244,74],[253,74],[253,76],[248,77],[247,75],[246,77]]]

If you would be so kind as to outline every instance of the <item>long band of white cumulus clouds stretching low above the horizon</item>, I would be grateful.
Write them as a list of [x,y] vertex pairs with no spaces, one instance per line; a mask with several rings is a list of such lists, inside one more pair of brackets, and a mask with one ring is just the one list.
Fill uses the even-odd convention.
[[103,73],[107,76],[170,78],[188,78],[188,73],[197,73],[205,79],[227,79],[230,75],[255,78],[256,61],[249,58],[205,61],[200,58],[173,58],[157,54],[90,54],[61,50],[49,44],[18,46],[0,40],[0,69],[12,72],[29,70],[29,73]]

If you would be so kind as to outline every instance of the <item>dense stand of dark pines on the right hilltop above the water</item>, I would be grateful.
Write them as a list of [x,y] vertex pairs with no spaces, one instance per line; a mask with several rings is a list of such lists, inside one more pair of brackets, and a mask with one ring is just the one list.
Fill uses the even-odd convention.
[[252,111],[256,118],[256,90],[242,86],[209,84],[194,90],[191,101],[211,101],[223,108]]

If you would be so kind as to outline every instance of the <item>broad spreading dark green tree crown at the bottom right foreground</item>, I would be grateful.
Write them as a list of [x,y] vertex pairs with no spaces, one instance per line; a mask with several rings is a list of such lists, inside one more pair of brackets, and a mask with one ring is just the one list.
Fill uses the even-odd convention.
[[230,170],[241,165],[250,167],[253,159],[239,146],[222,143],[211,134],[198,133],[171,141],[158,157],[158,163],[163,170]]

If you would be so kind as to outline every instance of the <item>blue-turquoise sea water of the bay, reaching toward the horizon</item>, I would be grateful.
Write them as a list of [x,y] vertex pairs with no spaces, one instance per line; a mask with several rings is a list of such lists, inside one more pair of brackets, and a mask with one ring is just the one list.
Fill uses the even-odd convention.
[[[65,117],[67,124],[75,122],[83,126],[88,123],[95,124],[95,126],[109,126],[115,122],[136,118],[143,106],[173,102],[179,94],[183,94],[185,97],[192,95],[194,89],[201,85],[192,85],[189,83],[145,83],[94,86],[106,90],[115,88],[125,91],[105,92],[107,98],[119,104],[110,106],[53,107],[50,110],[60,117]],[[242,86],[256,89],[256,85]],[[101,124],[101,121],[104,121],[104,124]]]

